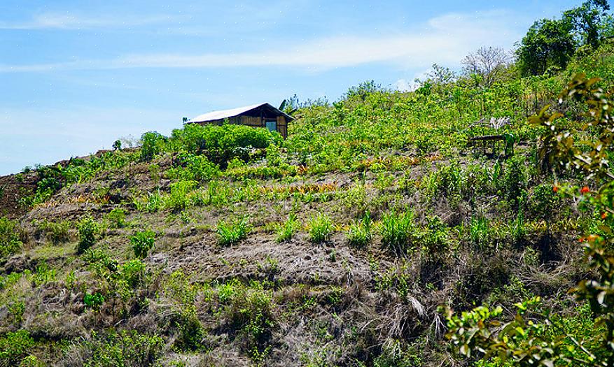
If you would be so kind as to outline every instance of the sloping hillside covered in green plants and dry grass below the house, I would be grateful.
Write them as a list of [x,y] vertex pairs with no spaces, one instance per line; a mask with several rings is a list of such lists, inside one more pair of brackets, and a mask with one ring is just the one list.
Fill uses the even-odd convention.
[[[489,87],[363,83],[296,103],[286,141],[187,125],[0,178],[0,365],[468,366],[438,306],[533,296],[592,333],[567,291],[601,219],[553,189],[591,183],[538,171],[527,117],[575,73],[611,86],[612,48]],[[467,144],[491,134],[513,151]]]

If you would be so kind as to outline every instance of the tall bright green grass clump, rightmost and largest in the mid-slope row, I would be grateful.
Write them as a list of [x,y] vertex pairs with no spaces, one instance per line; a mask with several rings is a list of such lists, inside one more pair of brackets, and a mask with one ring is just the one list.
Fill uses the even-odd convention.
[[406,252],[410,247],[414,233],[414,213],[406,211],[396,214],[395,212],[384,213],[382,216],[382,245],[389,247],[395,252]]

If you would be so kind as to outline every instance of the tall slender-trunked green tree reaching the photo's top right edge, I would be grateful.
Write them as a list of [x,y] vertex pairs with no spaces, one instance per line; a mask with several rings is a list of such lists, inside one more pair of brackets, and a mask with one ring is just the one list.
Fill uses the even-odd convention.
[[603,38],[603,25],[608,20],[607,10],[610,10],[607,0],[589,0],[578,8],[567,10],[563,17],[573,26],[580,43],[597,48]]

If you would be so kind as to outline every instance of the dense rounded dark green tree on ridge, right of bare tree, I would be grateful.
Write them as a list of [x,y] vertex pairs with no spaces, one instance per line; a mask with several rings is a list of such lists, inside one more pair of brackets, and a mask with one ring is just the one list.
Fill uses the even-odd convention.
[[568,19],[543,19],[533,23],[516,51],[522,74],[542,75],[552,66],[564,69],[575,52],[572,30]]

